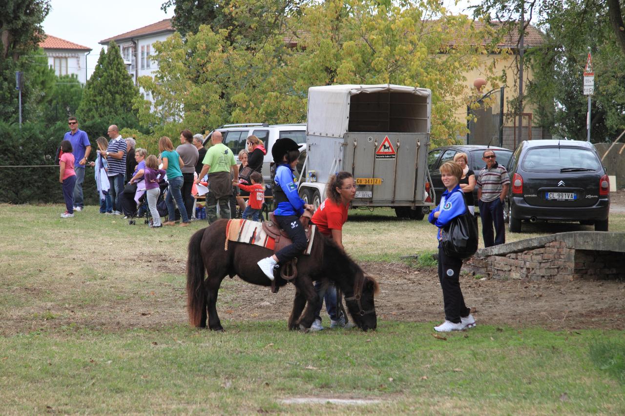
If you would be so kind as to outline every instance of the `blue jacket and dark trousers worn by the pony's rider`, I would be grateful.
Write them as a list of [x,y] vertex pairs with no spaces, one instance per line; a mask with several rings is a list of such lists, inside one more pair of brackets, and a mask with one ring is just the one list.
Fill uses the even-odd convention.
[[305,202],[299,197],[293,171],[287,164],[277,165],[274,177],[274,200],[277,202],[274,218],[293,243],[276,253],[278,262],[284,264],[301,254],[308,244],[304,228],[299,223],[299,217],[304,214]]

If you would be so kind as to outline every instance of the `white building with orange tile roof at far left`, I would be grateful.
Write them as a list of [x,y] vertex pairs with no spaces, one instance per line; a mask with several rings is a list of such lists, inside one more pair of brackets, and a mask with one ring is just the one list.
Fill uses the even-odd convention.
[[46,54],[49,66],[54,68],[54,73],[58,76],[75,75],[82,84],[87,82],[87,55],[91,52],[90,47],[50,34],[46,34],[39,46]]

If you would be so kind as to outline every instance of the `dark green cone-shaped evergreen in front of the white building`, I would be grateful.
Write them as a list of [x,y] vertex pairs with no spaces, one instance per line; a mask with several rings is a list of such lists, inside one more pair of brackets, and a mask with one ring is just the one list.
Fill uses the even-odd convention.
[[119,47],[111,41],[106,53],[100,53],[96,69],[84,88],[78,117],[87,119],[112,118],[126,114],[136,115],[134,99],[139,90],[126,70]]

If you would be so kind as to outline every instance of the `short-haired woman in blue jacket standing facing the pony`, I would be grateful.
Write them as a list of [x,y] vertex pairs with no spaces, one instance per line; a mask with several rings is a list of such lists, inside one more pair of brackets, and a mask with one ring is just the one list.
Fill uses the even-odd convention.
[[445,162],[439,169],[442,184],[447,188],[442,193],[441,203],[432,210],[428,220],[438,227],[438,278],[441,281],[442,300],[445,306],[445,322],[434,330],[437,332],[459,331],[476,325],[471,309],[464,304],[460,289],[460,268],[462,260],[449,257],[441,247],[441,229],[449,225],[452,219],[466,212],[466,202],[460,189],[459,181],[462,169],[454,162]]

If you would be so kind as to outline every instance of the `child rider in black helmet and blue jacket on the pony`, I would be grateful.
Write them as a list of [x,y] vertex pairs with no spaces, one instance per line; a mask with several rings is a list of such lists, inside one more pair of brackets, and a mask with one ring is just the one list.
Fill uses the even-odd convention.
[[276,162],[273,196],[277,206],[274,210],[274,218],[280,228],[289,235],[292,244],[258,262],[258,266],[269,280],[274,279],[274,267],[278,264],[284,264],[306,249],[308,242],[304,228],[299,223],[299,217],[304,214],[306,209],[311,212],[314,210],[312,205],[306,204],[299,197],[297,183],[293,176],[299,160],[299,145],[286,137],[277,139],[271,147],[271,156]]

